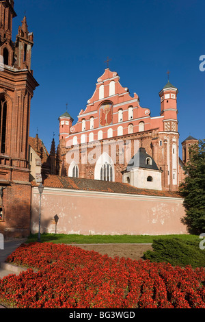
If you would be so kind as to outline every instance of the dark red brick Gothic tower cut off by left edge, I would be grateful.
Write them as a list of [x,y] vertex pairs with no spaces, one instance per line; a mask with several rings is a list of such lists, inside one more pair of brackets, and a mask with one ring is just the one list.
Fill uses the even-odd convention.
[[0,232],[27,236],[30,227],[30,102],[38,83],[31,71],[33,34],[26,17],[12,42],[14,1],[0,1]]

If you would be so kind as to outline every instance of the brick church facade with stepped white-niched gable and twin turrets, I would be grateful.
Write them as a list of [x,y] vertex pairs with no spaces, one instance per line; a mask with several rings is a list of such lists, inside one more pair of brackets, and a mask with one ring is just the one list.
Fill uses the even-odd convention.
[[177,95],[168,81],[159,92],[160,114],[151,116],[118,73],[105,69],[77,123],[68,111],[59,116],[59,174],[177,191],[183,179]]

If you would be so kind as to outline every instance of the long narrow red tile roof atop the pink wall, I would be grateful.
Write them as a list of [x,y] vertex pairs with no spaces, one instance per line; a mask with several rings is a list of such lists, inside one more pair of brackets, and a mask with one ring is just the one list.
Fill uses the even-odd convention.
[[[61,177],[59,175],[43,175],[43,185],[49,188],[64,188],[71,190],[87,190],[105,193],[123,193],[132,195],[150,195],[159,197],[176,197],[181,195],[174,191],[161,191],[135,188],[129,184],[120,182],[107,182],[94,179],[83,179],[74,177]],[[33,182],[33,186],[36,184]]]

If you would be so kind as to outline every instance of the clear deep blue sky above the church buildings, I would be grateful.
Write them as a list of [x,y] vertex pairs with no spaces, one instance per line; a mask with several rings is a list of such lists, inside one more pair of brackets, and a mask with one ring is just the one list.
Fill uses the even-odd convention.
[[[34,34],[31,67],[40,84],[31,100],[30,136],[50,151],[58,143],[58,117],[77,115],[92,97],[98,77],[109,68],[141,107],[159,116],[159,91],[178,88],[180,143],[205,138],[204,0],[15,0],[13,40],[26,10]],[[181,153],[180,153],[181,154]]]

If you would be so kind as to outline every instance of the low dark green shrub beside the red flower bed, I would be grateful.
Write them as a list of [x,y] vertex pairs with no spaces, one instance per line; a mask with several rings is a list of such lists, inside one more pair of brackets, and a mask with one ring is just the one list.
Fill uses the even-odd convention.
[[153,251],[146,251],[143,258],[151,262],[168,262],[173,266],[204,267],[205,249],[200,249],[200,240],[154,239]]

